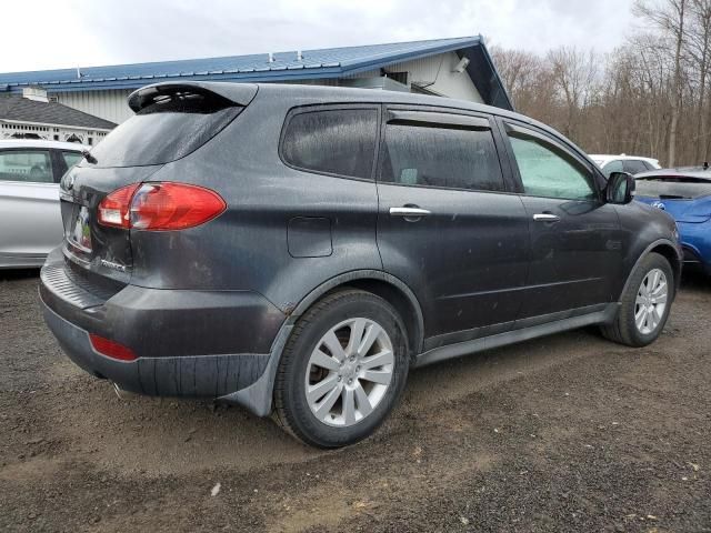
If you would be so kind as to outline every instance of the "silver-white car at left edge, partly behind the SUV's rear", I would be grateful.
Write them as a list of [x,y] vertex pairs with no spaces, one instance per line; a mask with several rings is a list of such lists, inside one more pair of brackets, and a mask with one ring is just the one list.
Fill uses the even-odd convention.
[[0,141],[0,269],[41,266],[63,238],[59,180],[88,147]]

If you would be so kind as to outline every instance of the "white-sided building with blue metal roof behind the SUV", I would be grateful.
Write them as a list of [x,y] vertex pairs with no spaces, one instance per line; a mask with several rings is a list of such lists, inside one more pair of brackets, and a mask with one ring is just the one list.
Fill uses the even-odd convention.
[[58,103],[120,123],[132,115],[132,91],[177,80],[363,87],[512,109],[481,37],[8,73],[0,94],[40,87]]

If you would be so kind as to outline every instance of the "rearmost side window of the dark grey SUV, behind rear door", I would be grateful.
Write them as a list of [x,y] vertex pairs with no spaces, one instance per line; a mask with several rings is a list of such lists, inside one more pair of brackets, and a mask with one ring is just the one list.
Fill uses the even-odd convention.
[[375,109],[308,111],[289,121],[281,153],[300,169],[369,179],[377,132]]

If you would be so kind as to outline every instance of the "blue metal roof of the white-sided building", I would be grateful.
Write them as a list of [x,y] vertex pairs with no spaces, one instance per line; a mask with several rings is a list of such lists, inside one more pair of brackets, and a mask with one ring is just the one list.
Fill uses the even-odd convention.
[[[42,86],[49,91],[137,89],[163,80],[194,81],[298,81],[342,78],[387,64],[457,51],[470,59],[468,73],[485,103],[512,109],[481,36],[363,47],[304,50],[222,58],[186,59],[150,63],[80,67],[0,73],[0,91]],[[481,87],[480,87],[481,86]]]

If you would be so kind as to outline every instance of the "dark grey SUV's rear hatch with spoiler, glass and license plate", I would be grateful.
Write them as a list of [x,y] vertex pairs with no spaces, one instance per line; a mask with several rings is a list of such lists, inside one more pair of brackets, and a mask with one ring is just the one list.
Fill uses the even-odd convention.
[[76,274],[121,286],[131,279],[131,230],[102,225],[98,207],[110,193],[150,180],[164,164],[208,143],[254,98],[257,86],[162,83],[129,97],[136,112],[61,181],[63,253]]

